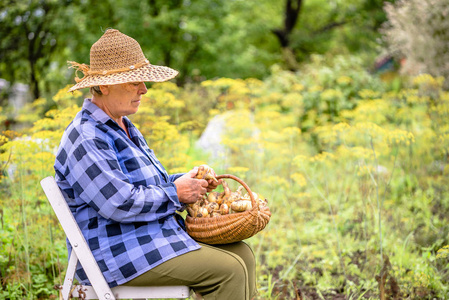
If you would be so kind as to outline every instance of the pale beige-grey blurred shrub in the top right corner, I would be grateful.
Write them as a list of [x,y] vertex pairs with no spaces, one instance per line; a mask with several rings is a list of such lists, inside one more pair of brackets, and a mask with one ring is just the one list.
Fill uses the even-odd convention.
[[[449,2],[400,0],[386,3],[383,34],[390,50],[405,59],[409,74],[449,76]],[[446,83],[449,87],[449,83]]]

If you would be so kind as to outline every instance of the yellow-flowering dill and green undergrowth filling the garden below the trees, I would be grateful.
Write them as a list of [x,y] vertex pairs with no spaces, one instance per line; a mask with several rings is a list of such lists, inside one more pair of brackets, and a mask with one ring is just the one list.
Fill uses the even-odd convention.
[[[248,240],[259,299],[378,299],[381,274],[387,298],[449,296],[449,94],[430,75],[390,90],[361,64],[314,56],[263,81],[153,84],[131,116],[170,172],[208,163],[268,199],[272,219]],[[81,99],[62,90],[43,118],[35,104],[31,128],[1,135],[0,297],[56,295],[65,238],[38,182]],[[195,142],[217,115],[212,160]]]

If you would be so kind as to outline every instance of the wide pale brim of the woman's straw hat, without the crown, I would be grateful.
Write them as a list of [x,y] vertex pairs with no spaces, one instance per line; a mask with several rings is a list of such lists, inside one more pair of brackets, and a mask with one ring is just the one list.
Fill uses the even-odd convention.
[[175,78],[178,73],[178,71],[169,67],[148,64],[127,72],[113,73],[109,75],[87,75],[80,82],[72,86],[69,89],[69,92],[98,85],[113,85],[142,81],[163,82]]

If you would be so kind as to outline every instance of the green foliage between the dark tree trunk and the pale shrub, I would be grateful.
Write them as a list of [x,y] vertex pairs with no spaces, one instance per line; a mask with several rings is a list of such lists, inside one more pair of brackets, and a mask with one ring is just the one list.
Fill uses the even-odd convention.
[[[394,1],[392,1],[394,2]],[[324,53],[375,55],[379,33],[386,21],[383,0],[303,1],[292,48],[299,61]]]

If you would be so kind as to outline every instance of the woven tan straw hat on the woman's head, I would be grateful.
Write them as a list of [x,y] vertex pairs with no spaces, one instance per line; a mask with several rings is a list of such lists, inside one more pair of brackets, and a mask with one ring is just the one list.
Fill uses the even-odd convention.
[[178,71],[155,66],[145,58],[139,43],[116,29],[108,29],[90,48],[90,67],[69,61],[70,68],[81,71],[83,78],[69,92],[97,85],[126,82],[162,82],[174,78]]

